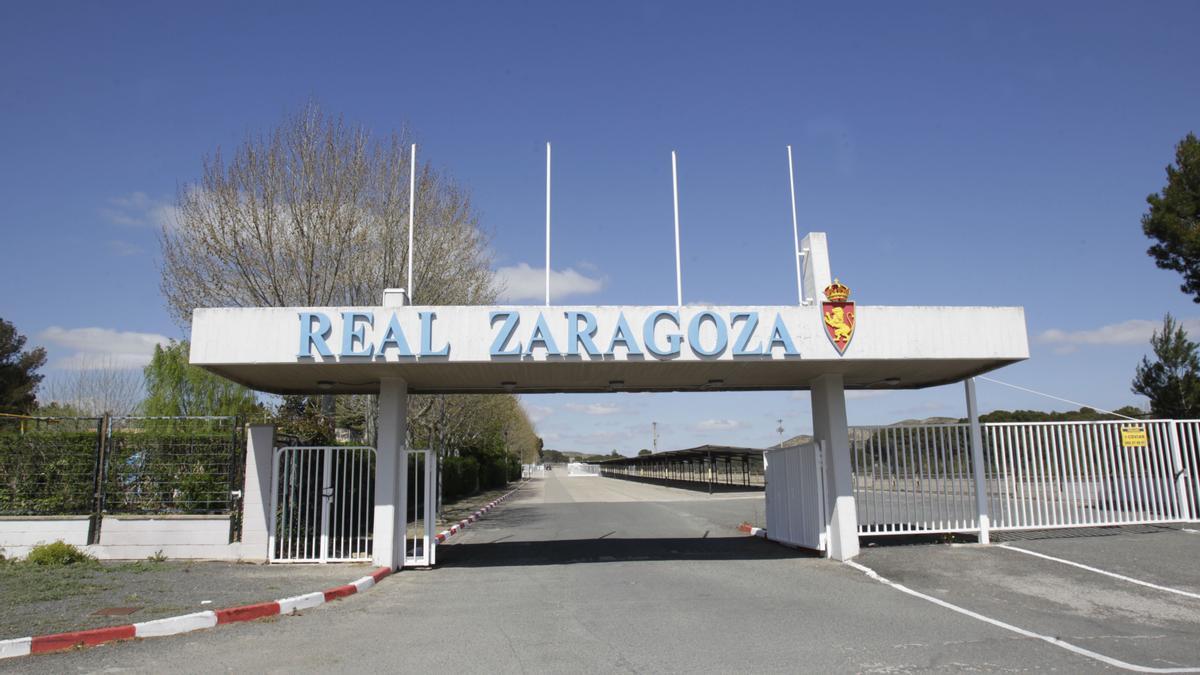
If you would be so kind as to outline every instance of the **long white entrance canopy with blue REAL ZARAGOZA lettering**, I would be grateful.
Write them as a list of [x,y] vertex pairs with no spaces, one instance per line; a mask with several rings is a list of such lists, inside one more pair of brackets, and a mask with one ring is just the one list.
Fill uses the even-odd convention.
[[845,354],[808,306],[199,309],[192,364],[277,394],[847,389],[959,382],[1028,358],[1020,307],[859,306]]

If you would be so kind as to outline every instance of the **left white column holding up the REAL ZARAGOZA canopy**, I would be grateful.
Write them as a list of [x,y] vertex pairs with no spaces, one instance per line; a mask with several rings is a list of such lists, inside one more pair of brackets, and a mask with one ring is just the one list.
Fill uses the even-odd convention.
[[404,560],[404,462],[408,431],[408,383],[398,377],[379,381],[379,441],[376,447],[376,504],[372,560],[396,569]]

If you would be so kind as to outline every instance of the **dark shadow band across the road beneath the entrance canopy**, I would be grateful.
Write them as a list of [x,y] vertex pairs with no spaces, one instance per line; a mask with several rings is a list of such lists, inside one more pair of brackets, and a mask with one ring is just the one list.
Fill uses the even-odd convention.
[[671,539],[497,540],[457,544],[438,551],[440,567],[509,567],[662,560],[821,558],[815,551],[790,549],[756,537]]

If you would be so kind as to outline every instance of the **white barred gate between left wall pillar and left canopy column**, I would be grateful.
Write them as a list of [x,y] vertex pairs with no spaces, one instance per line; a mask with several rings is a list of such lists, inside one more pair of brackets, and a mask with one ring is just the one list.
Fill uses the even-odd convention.
[[270,561],[371,560],[374,448],[275,449]]

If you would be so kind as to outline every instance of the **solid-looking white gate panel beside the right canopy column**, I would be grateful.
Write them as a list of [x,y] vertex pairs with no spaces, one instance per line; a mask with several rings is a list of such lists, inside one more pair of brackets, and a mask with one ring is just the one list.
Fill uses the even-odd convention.
[[767,450],[767,538],[826,550],[824,452],[821,443]]

